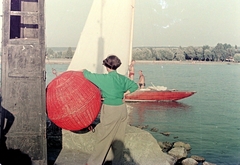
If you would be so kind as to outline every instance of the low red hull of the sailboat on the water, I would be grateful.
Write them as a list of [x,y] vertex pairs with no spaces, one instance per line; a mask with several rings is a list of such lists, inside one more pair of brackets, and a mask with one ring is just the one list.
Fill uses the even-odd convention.
[[192,96],[195,91],[140,89],[125,96],[126,102],[177,101]]

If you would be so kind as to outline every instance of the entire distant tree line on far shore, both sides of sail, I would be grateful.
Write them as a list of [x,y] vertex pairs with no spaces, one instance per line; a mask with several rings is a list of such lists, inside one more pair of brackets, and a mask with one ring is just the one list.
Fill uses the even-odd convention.
[[[68,47],[64,51],[54,51],[48,48],[48,58],[71,59],[74,50]],[[229,61],[240,62],[240,49],[237,45],[218,43],[215,47],[208,45],[194,47],[134,47],[132,49],[134,60],[151,61]]]

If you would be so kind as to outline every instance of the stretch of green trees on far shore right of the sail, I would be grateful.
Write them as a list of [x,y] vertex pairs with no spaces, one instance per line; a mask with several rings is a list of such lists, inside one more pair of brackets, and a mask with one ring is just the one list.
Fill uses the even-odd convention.
[[230,44],[218,43],[215,47],[204,45],[202,47],[179,48],[133,48],[135,60],[198,60],[198,61],[225,61],[233,58],[237,53]]

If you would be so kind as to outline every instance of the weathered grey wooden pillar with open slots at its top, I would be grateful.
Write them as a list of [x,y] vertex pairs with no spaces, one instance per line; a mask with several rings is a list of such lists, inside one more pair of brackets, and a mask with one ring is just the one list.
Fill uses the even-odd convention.
[[15,117],[6,144],[46,165],[44,0],[3,0],[2,31],[2,106]]

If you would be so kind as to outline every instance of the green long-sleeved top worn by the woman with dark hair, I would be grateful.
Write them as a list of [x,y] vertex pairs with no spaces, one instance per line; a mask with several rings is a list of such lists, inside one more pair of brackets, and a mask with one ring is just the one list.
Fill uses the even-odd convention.
[[83,71],[84,77],[95,84],[102,93],[103,103],[107,105],[123,104],[123,95],[126,91],[131,93],[138,89],[138,85],[115,70],[108,74],[91,73]]

